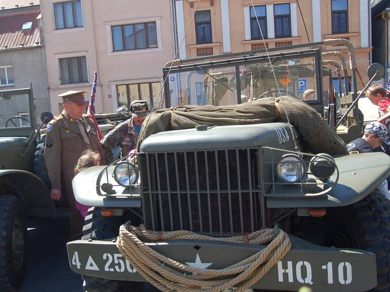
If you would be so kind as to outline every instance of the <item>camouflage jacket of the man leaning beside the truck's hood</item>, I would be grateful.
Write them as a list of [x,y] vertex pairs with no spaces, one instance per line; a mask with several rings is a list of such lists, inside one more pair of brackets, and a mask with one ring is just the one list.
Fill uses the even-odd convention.
[[111,148],[120,146],[122,148],[122,157],[129,154],[129,152],[136,148],[138,135],[133,124],[133,118],[124,121],[113,128],[107,135],[103,137],[100,144],[103,148],[106,163],[114,162]]

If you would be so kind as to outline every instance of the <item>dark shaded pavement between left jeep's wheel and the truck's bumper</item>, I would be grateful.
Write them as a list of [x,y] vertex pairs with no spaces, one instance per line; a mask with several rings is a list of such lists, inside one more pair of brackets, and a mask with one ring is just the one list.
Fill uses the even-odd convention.
[[29,219],[27,270],[20,292],[82,292],[82,279],[69,267],[69,213],[57,219]]

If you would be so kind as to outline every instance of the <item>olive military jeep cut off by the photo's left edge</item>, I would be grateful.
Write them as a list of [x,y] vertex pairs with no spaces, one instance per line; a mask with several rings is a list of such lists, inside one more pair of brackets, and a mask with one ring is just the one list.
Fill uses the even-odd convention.
[[0,91],[0,290],[17,291],[26,269],[26,216],[56,217],[34,174],[39,130],[31,88]]

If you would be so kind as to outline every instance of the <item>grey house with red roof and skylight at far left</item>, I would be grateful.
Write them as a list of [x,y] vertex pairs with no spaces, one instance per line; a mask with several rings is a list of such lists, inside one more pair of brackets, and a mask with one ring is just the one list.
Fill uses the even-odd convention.
[[[50,110],[39,21],[39,0],[0,0],[0,90],[29,88],[31,82],[38,123],[41,113]],[[0,128],[5,127],[10,115],[29,116],[27,103],[25,111],[20,112],[0,98],[0,109]],[[26,123],[22,119],[15,121]]]

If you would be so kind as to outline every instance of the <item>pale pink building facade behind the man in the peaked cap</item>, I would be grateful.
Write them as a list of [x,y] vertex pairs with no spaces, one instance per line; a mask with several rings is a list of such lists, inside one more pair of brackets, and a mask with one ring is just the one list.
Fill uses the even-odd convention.
[[[49,0],[41,14],[52,112],[58,94],[91,92],[98,72],[96,111],[128,108],[145,99],[162,107],[161,68],[174,57],[170,0]],[[88,100],[88,96],[86,96]]]

